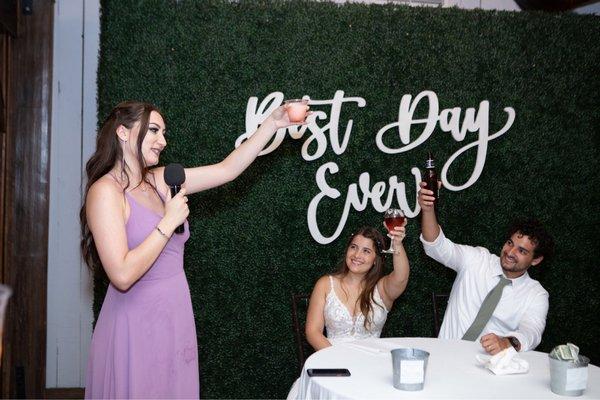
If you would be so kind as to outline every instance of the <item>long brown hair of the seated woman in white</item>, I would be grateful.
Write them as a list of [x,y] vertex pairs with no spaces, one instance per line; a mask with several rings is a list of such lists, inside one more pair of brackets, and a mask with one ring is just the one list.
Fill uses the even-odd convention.
[[344,250],[344,258],[342,258],[342,261],[340,261],[340,263],[338,264],[338,268],[334,275],[340,277],[341,279],[348,274],[349,269],[348,264],[346,264],[346,254],[348,253],[348,249],[350,248],[352,240],[356,235],[361,235],[367,239],[371,239],[371,241],[373,242],[373,248],[375,249],[375,262],[364,277],[365,287],[363,288],[358,298],[360,311],[365,316],[365,329],[370,330],[373,320],[373,303],[383,308],[383,305],[377,303],[374,298],[375,285],[377,285],[379,279],[383,277],[385,266],[385,258],[382,253],[384,243],[383,235],[377,229],[371,226],[363,226],[358,231],[354,232],[352,236],[350,236],[350,240],[348,240],[348,243],[346,244],[346,249]]

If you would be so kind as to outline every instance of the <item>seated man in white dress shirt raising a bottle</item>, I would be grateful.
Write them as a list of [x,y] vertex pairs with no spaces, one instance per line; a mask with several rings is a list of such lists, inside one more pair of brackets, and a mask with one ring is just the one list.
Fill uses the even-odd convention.
[[535,349],[546,326],[548,292],[527,270],[551,255],[552,237],[539,222],[528,220],[511,226],[500,257],[483,247],[455,244],[438,225],[432,195],[421,183],[418,200],[423,248],[428,256],[457,272],[439,337],[463,338],[487,294],[504,275],[511,282],[477,340],[490,354],[510,346],[517,351]]

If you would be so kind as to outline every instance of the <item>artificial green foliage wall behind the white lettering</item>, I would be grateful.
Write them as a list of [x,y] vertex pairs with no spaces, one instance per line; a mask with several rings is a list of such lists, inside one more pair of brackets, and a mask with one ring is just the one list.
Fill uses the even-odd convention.
[[[600,362],[598,279],[598,17],[465,11],[328,2],[105,0],[98,71],[99,118],[119,101],[157,104],[169,146],[162,162],[187,167],[215,163],[245,132],[248,99],[271,92],[286,98],[331,99],[337,90],[365,107],[342,107],[339,132],[354,121],[348,147],[305,161],[309,136],[286,136],[235,181],[190,199],[191,238],[185,265],[192,292],[206,398],[285,397],[297,375],[291,293],[308,293],[332,271],[350,233],[381,227],[372,203],[351,210],[340,237],[320,245],[307,228],[307,208],[319,193],[318,168],[335,162],[328,184],[340,191],[319,209],[319,227],[337,227],[348,185],[369,172],[370,186],[391,176],[405,182],[415,207],[412,167],[427,151],[447,159],[477,139],[458,142],[439,124],[415,149],[385,154],[379,129],[397,121],[403,95],[437,94],[440,110],[490,103],[490,133],[516,119],[488,144],[478,181],[442,191],[439,212],[448,237],[498,252],[514,217],[534,215],[558,243],[553,260],[532,269],[550,293],[543,342],[567,341]],[[329,106],[313,106],[330,115]],[[416,117],[428,112],[426,102]],[[320,122],[320,126],[329,118]],[[413,126],[416,137],[422,125]],[[391,131],[390,131],[391,132]],[[413,137],[413,140],[414,140]],[[399,146],[388,133],[390,145]],[[314,145],[314,144],[313,144]],[[311,148],[313,149],[313,148]],[[314,150],[314,149],[313,149]],[[465,182],[475,149],[453,164],[449,179]],[[387,195],[387,191],[385,192]],[[448,292],[454,273],[427,258],[419,220],[408,225],[408,288],[390,313],[385,336],[431,336],[431,292]],[[388,265],[388,269],[390,266]],[[96,312],[105,286],[96,286]]]

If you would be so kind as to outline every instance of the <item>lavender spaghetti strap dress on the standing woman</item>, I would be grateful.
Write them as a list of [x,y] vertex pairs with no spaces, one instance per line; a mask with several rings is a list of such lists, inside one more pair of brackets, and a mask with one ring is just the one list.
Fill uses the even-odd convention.
[[[127,242],[137,247],[161,216],[128,193]],[[174,234],[148,272],[129,290],[109,285],[89,354],[86,398],[198,398],[198,348],[190,290],[183,271],[189,238]]]

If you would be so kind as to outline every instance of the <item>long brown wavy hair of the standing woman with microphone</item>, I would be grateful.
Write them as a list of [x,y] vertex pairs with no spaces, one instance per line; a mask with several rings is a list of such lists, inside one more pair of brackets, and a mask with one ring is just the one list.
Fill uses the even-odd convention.
[[[125,188],[123,189],[123,193],[125,193],[125,190],[130,184],[129,173],[127,172],[129,166],[123,157],[123,150],[121,149],[119,138],[117,137],[117,128],[123,125],[127,129],[131,129],[137,122],[140,123],[140,130],[136,143],[137,164],[139,170],[142,171],[142,180],[139,184],[141,184],[142,181],[150,184],[147,180],[147,175],[148,173],[151,174],[151,172],[149,172],[148,166],[142,155],[142,142],[148,132],[148,120],[150,119],[150,113],[152,111],[161,114],[164,119],[160,110],[152,104],[136,101],[119,103],[104,120],[102,128],[96,137],[96,151],[85,165],[87,183],[85,185],[83,205],[79,212],[79,219],[81,221],[81,254],[87,266],[94,272],[102,270],[102,264],[96,249],[96,244],[94,243],[94,237],[92,236],[87,223],[85,208],[88,191],[98,179],[109,173],[115,165],[120,164],[120,178],[126,182]],[[154,185],[150,184],[150,186],[154,188]],[[156,189],[154,188],[154,190]]]

